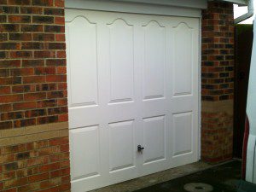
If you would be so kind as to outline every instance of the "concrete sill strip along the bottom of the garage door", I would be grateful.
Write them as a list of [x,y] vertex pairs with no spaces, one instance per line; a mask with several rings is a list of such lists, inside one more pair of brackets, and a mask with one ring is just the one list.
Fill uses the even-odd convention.
[[157,172],[145,177],[139,177],[123,183],[114,184],[102,189],[92,190],[91,192],[131,192],[138,189],[144,189],[149,186],[154,186],[158,183],[164,183],[177,177],[183,177],[195,172],[201,172],[211,167],[212,165],[200,161],[186,166],[172,168],[164,172]]

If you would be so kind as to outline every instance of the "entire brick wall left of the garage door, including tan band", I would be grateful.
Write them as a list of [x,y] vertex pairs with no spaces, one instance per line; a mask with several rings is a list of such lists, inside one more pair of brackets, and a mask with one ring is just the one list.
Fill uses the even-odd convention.
[[0,191],[69,191],[64,0],[0,0]]

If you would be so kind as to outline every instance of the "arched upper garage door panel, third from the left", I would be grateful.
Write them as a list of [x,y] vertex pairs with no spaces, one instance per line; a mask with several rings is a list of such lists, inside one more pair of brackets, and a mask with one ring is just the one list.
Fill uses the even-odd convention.
[[166,27],[151,20],[144,31],[143,100],[165,96]]

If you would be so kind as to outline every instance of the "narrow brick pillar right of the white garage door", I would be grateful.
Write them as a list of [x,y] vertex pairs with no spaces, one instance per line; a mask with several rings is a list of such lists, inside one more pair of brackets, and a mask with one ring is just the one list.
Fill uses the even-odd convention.
[[234,19],[231,3],[202,11],[201,159],[230,160],[233,152]]

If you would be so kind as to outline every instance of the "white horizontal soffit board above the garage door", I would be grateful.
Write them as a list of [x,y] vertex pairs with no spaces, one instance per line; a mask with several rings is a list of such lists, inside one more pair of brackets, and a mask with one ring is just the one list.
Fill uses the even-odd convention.
[[207,8],[207,0],[65,0],[65,7],[133,14],[201,17],[201,9]]

